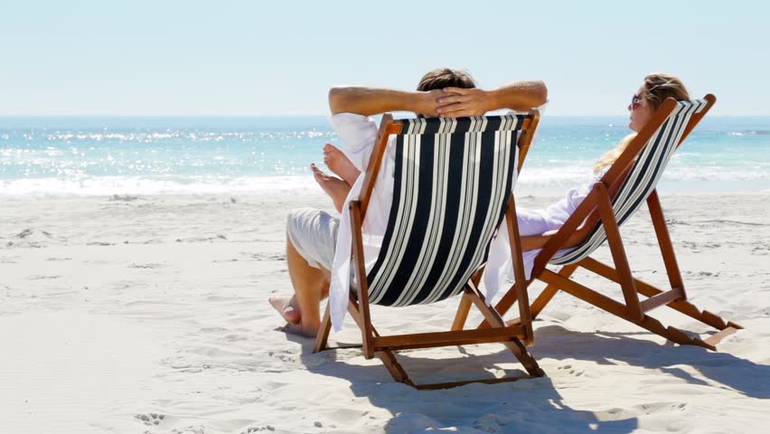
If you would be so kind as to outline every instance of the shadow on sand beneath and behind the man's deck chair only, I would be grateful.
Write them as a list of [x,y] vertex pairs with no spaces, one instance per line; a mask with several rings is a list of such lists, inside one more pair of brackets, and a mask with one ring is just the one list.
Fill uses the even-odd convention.
[[[461,433],[624,433],[638,428],[638,420],[627,414],[618,413],[616,420],[609,420],[613,419],[611,415],[599,420],[593,411],[569,408],[548,376],[418,391],[394,382],[379,359],[365,361],[358,348],[313,354],[312,340],[297,336],[289,339],[303,344],[302,360],[310,372],[344,379],[351,383],[356,396],[390,411],[394,416],[386,432],[454,427],[454,432]],[[489,346],[484,346],[488,351]],[[420,357],[419,350],[402,351],[397,357],[418,383],[493,378],[495,371],[503,371],[506,376],[524,374],[515,357],[500,347],[501,351],[493,354],[468,354],[460,347],[456,354],[442,359]]]

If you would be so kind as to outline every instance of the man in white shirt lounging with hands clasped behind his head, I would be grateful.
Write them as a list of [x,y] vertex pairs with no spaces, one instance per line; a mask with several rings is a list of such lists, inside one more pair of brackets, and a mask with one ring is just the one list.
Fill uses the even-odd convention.
[[[335,87],[329,91],[330,121],[343,141],[344,153],[334,153],[328,147],[324,153],[334,154],[331,157],[334,162],[329,166],[342,179],[325,175],[314,165],[315,178],[332,196],[338,211],[343,209],[341,195],[347,196],[347,200],[357,197],[362,184],[362,176],[358,175],[369,164],[379,129],[369,118],[371,115],[412,111],[425,117],[480,116],[494,109],[526,111],[541,106],[546,99],[547,90],[542,81],[518,81],[494,90],[481,90],[475,88],[474,80],[467,73],[450,69],[428,72],[416,91]],[[388,224],[394,164],[395,140],[391,137],[362,224],[367,271],[377,259],[381,237]],[[337,297],[333,297],[337,303],[331,310],[333,324],[339,329],[347,304],[347,297],[339,294],[348,290],[350,273],[347,260],[350,225],[346,220],[347,213],[343,213],[341,224],[328,213],[310,208],[290,212],[286,261],[295,296],[270,297],[270,304],[288,323],[286,332],[306,336],[317,334],[321,322],[319,303],[328,297],[330,282],[334,282],[333,290],[337,291]],[[336,250],[338,245],[339,251]]]

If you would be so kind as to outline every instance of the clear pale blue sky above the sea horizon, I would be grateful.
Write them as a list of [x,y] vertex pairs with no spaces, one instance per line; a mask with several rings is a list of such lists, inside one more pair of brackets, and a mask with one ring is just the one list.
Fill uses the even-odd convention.
[[758,0],[0,1],[0,116],[324,115],[333,85],[439,66],[545,80],[550,115],[623,115],[651,71],[770,115]]

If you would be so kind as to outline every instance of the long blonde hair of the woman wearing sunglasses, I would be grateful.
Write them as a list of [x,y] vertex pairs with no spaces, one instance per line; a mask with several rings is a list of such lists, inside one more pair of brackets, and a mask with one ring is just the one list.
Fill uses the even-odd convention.
[[[660,72],[652,73],[644,77],[644,95],[642,96],[651,111],[659,109],[667,98],[671,97],[678,101],[690,99],[690,93],[678,77]],[[636,133],[631,133],[620,141],[614,148],[601,156],[596,165],[594,173],[599,172],[608,165],[612,165],[617,160],[626,146],[636,137]]]

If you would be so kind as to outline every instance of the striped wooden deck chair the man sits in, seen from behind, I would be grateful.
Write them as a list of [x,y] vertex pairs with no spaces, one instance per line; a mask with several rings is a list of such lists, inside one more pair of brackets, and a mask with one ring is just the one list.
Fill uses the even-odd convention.
[[[380,124],[359,200],[347,212],[352,225],[355,279],[348,311],[362,332],[366,358],[377,355],[397,382],[418,389],[442,389],[469,382],[502,382],[541,376],[542,370],[521,341],[531,340],[529,303],[522,303],[517,325],[505,325],[487,305],[478,282],[489,243],[503,216],[515,205],[511,193],[520,162],[531,143],[539,114],[476,118],[416,118]],[[362,258],[362,221],[390,135],[396,135],[393,202],[380,255],[367,274]],[[511,219],[508,219],[511,222]],[[512,254],[521,261],[518,227],[509,226]],[[526,299],[520,285],[518,297]],[[404,307],[434,303],[465,293],[492,327],[409,335],[380,335],[371,324],[370,304]],[[331,329],[326,307],[315,352],[328,349]],[[437,346],[505,344],[527,374],[461,382],[413,382],[394,352]]]

